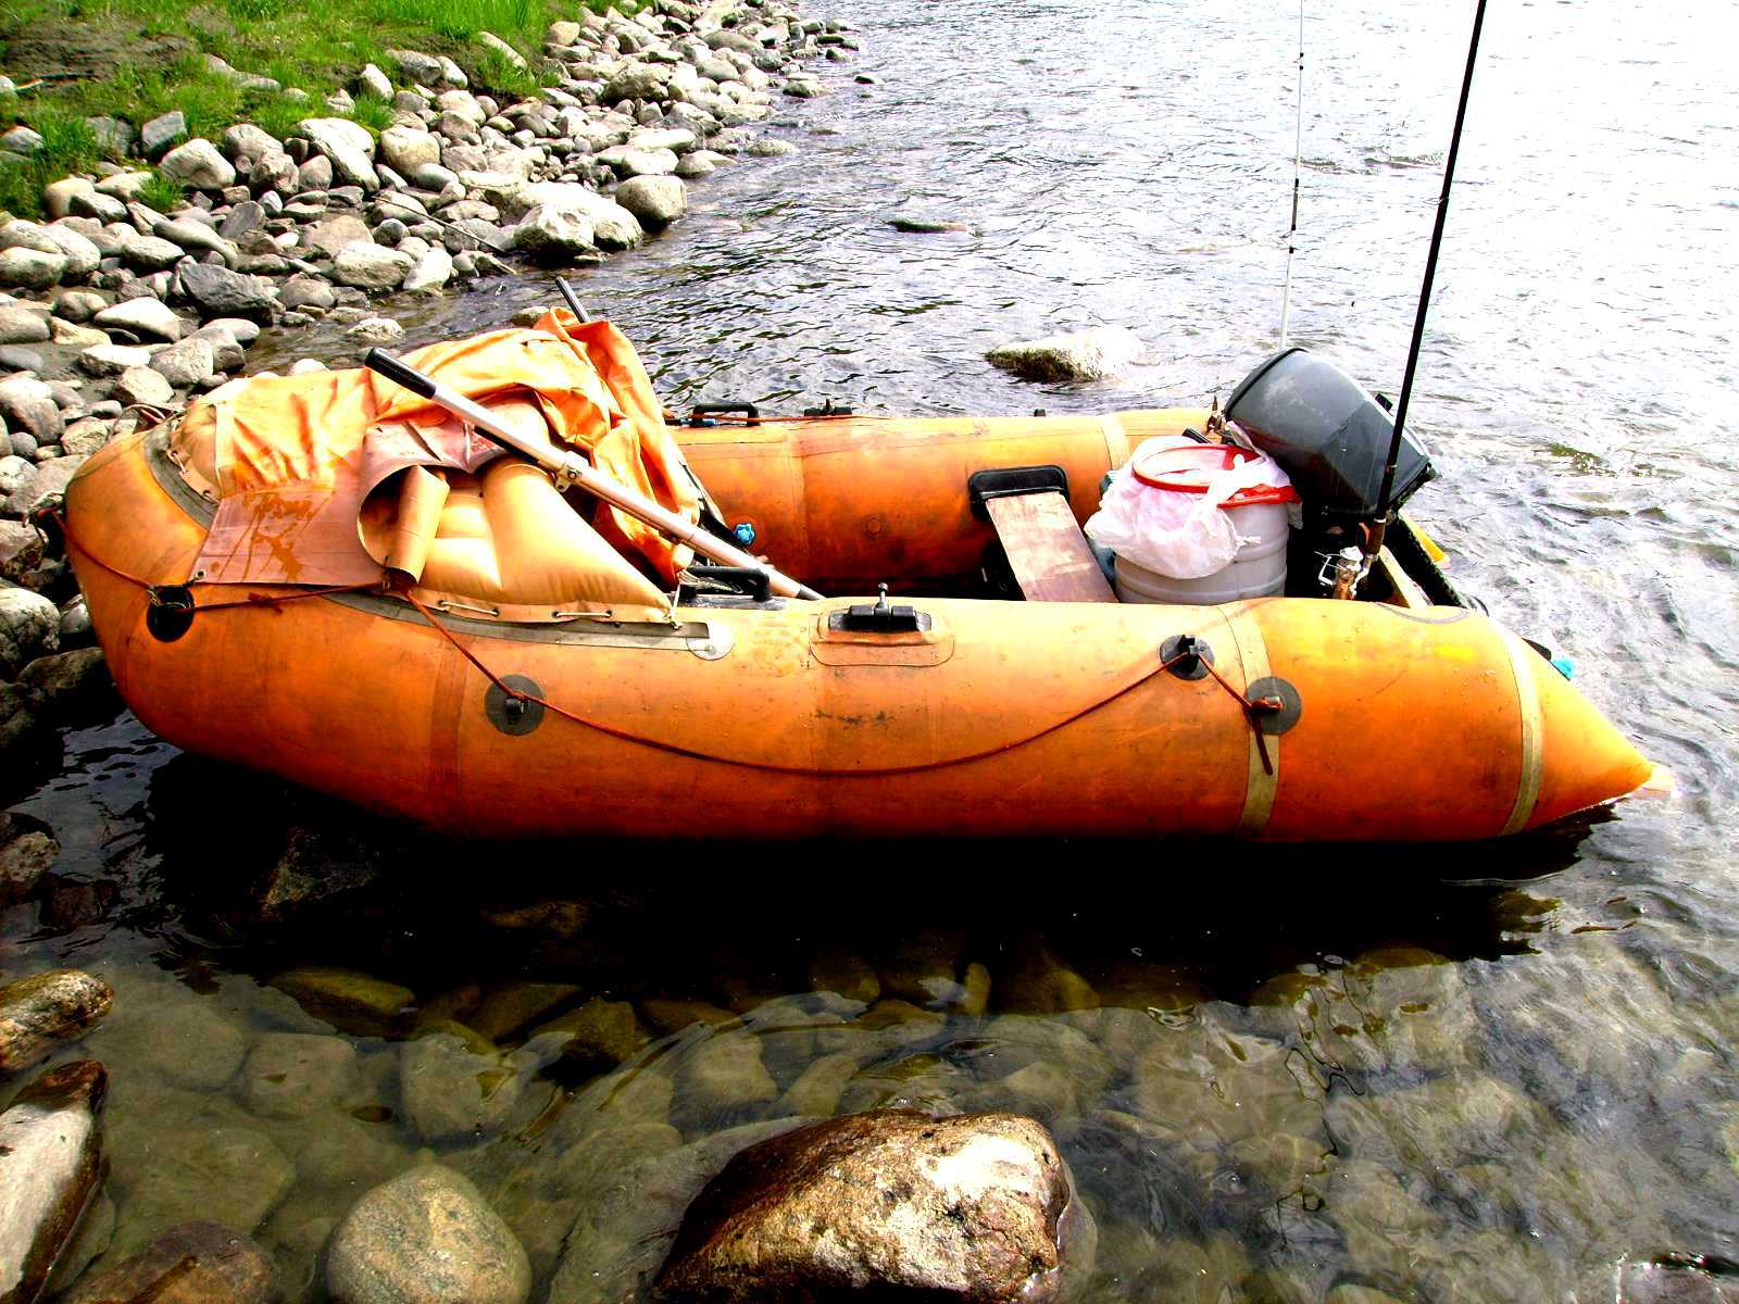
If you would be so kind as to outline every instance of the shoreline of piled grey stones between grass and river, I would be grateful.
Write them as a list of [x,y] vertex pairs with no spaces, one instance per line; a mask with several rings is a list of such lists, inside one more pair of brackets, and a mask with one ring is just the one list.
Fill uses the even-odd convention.
[[[285,139],[247,122],[186,139],[179,111],[137,134],[96,122],[141,163],[54,181],[49,221],[0,226],[0,751],[16,781],[57,753],[54,725],[103,675],[43,520],[90,454],[238,376],[263,329],[327,322],[358,348],[391,344],[403,332],[383,296],[633,249],[682,217],[689,183],[795,151],[755,125],[781,97],[823,94],[807,61],[856,45],[779,0],[656,0],[553,23],[558,83],[530,99],[393,50],[390,71],[356,77],[391,106],[377,137],[337,116],[344,92]],[[33,137],[17,127],[0,150]],[[144,160],[186,188],[184,207],[143,202]]]

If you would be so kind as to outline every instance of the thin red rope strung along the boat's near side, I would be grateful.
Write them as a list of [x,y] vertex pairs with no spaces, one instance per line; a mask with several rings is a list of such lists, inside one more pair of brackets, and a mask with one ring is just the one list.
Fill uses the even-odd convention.
[[[87,558],[90,558],[90,562],[94,562],[103,570],[108,570],[111,575],[115,575],[118,579],[123,579],[129,584],[136,584],[141,589],[144,589],[146,593],[150,593],[153,605],[163,605],[163,600],[162,600],[163,589],[167,589],[167,588],[177,588],[177,586],[172,586],[172,584],[153,584],[153,582],[150,582],[146,579],[139,579],[137,575],[130,575],[125,570],[120,570],[118,567],[110,565],[108,562],[104,562],[96,553],[92,553],[90,549],[83,548],[73,537],[71,530],[68,530],[68,527],[66,527],[66,518],[61,516],[61,513],[56,511],[56,513],[50,513],[50,515],[59,523],[61,536],[66,539],[68,546],[77,548],[80,553],[83,553]],[[207,582],[209,584],[210,581],[190,581],[190,584],[186,584],[183,588],[191,588],[193,584],[198,584],[198,582]],[[257,610],[261,607],[278,607],[278,605],[282,605],[285,602],[299,602],[303,598],[327,598],[327,596],[332,596],[336,593],[358,593],[358,591],[363,591],[363,589],[374,589],[377,593],[398,596],[398,598],[403,598],[405,602],[409,602],[417,610],[417,614],[424,621],[428,621],[430,628],[433,628],[435,633],[438,633],[442,638],[445,638],[461,657],[464,657],[466,661],[471,662],[471,666],[476,669],[478,675],[482,675],[485,680],[489,680],[510,701],[536,702],[537,706],[544,708],[546,711],[551,711],[553,715],[562,716],[563,720],[570,720],[576,725],[583,725],[584,729],[596,730],[598,734],[619,739],[623,742],[635,742],[638,746],[652,748],[654,751],[663,751],[663,753],[668,753],[668,755],[673,755],[673,756],[687,756],[689,760],[715,762],[718,765],[737,765],[737,767],[746,768],[746,770],[760,770],[760,772],[767,772],[767,774],[810,774],[810,775],[823,775],[823,777],[833,777],[833,779],[887,779],[887,777],[896,777],[896,775],[903,775],[903,774],[918,774],[918,772],[923,772],[923,770],[941,770],[941,768],[951,768],[955,765],[970,765],[972,762],[988,760],[991,756],[1000,756],[1005,751],[1014,751],[1016,748],[1024,748],[1024,746],[1029,746],[1033,742],[1038,742],[1040,739],[1049,737],[1050,734],[1056,734],[1059,729],[1066,729],[1066,727],[1073,725],[1076,720],[1083,720],[1085,716],[1089,716],[1089,715],[1092,715],[1096,711],[1104,709],[1111,702],[1115,702],[1115,701],[1118,701],[1122,697],[1127,697],[1130,692],[1134,692],[1136,689],[1139,689],[1148,680],[1151,680],[1151,678],[1155,678],[1158,675],[1163,675],[1165,671],[1172,669],[1174,666],[1179,666],[1184,661],[1188,661],[1189,657],[1196,655],[1193,650],[1188,650],[1188,647],[1186,647],[1186,650],[1181,650],[1176,655],[1167,657],[1167,659],[1160,661],[1158,664],[1155,664],[1155,666],[1141,671],[1134,680],[1130,680],[1123,687],[1116,689],[1109,695],[1101,697],[1097,702],[1089,702],[1087,706],[1080,708],[1078,711],[1073,711],[1071,715],[1066,715],[1064,718],[1056,720],[1056,722],[1045,725],[1043,729],[1036,730],[1035,734],[1028,734],[1023,739],[1014,739],[1012,742],[998,742],[996,746],[983,748],[979,751],[972,751],[972,753],[967,753],[963,756],[949,756],[946,760],[923,762],[923,763],[916,763],[916,765],[885,765],[885,767],[868,768],[868,770],[826,770],[826,768],[816,768],[816,767],[810,767],[810,765],[777,765],[774,762],[756,762],[756,760],[743,760],[739,756],[722,756],[718,753],[703,751],[699,748],[685,748],[680,742],[664,742],[661,739],[645,737],[643,734],[635,734],[635,732],[626,730],[626,729],[617,729],[616,725],[607,725],[607,723],[603,723],[600,720],[590,720],[590,718],[586,718],[583,715],[569,711],[565,706],[558,706],[556,702],[551,702],[548,697],[543,697],[543,695],[534,694],[534,692],[523,692],[522,689],[515,689],[510,683],[506,683],[499,675],[496,675],[496,671],[492,671],[489,666],[485,666],[476,657],[476,654],[471,652],[471,649],[468,649],[464,643],[461,643],[459,638],[457,638],[457,635],[454,635],[445,624],[442,624],[435,617],[435,612],[431,612],[428,609],[428,603],[424,603],[409,588],[403,588],[403,586],[393,588],[384,574],[383,574],[381,579],[370,579],[370,581],[363,581],[360,584],[334,584],[330,588],[297,589],[296,593],[249,593],[245,598],[237,598],[233,602],[214,602],[214,603],[209,603],[209,605],[203,605],[203,607],[197,605],[193,610],[197,614],[233,610],[237,607],[249,607],[249,609]],[[1235,689],[1217,669],[1214,669],[1212,662],[1207,657],[1202,657],[1200,664],[1207,669],[1209,675],[1214,676],[1214,682],[1221,689],[1224,689],[1228,694],[1231,694],[1233,701],[1236,701],[1238,706],[1243,708],[1245,722],[1250,725],[1250,729],[1256,734],[1256,748],[1261,753],[1263,768],[1268,774],[1273,774],[1275,770],[1273,770],[1273,763],[1268,758],[1268,744],[1266,744],[1264,735],[1263,735],[1259,716],[1261,715],[1273,715],[1275,711],[1280,711],[1282,709],[1282,702],[1276,697],[1257,697],[1256,701],[1250,701],[1242,692],[1238,692],[1238,689]]]

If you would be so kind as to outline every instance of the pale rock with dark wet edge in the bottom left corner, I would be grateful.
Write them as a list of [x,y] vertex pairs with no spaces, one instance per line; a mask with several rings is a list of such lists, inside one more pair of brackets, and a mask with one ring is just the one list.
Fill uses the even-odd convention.
[[108,1076],[92,1059],[30,1083],[0,1114],[0,1288],[30,1304],[101,1181]]

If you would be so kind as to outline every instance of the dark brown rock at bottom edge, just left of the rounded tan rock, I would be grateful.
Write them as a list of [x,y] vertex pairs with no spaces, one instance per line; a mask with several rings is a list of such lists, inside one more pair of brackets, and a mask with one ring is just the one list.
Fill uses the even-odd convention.
[[221,1222],[186,1222],[90,1278],[66,1304],[273,1304],[277,1269],[266,1252]]

